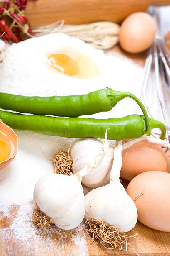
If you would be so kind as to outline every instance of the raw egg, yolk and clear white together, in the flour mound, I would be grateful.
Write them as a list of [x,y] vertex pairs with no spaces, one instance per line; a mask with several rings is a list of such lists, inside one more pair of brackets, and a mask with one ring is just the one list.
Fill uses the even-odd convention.
[[55,68],[55,72],[70,77],[81,79],[97,77],[100,74],[100,68],[92,61],[90,56],[86,56],[77,49],[63,47],[59,51],[51,53],[48,60]]

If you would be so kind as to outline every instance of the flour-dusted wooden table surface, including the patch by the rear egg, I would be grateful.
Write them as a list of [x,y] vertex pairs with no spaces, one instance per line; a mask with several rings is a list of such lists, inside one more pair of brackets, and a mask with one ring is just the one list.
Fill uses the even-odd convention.
[[[132,56],[122,52],[119,46],[110,49],[110,51],[117,51],[130,57],[138,64],[144,64],[145,53]],[[22,206],[11,205],[10,215],[7,217],[3,212],[0,212],[1,229],[7,229],[13,224],[20,207]],[[32,202],[30,202],[30,207],[32,207]],[[25,225],[23,240],[22,238],[18,240],[13,230],[10,231],[7,238],[0,236],[0,256],[135,256],[137,255],[135,251],[140,256],[170,256],[170,233],[153,230],[140,222],[129,232],[129,234],[138,233],[138,239],[133,239],[131,242],[135,251],[129,247],[127,252],[125,247],[122,248],[122,251],[109,250],[92,242],[90,236],[85,233],[85,223],[73,230],[61,230],[52,225],[51,230],[43,230],[40,234],[35,234],[37,229],[32,225],[30,215],[23,225]],[[28,226],[29,228],[27,228]],[[31,236],[27,241],[28,243],[25,243],[29,232],[32,232]]]

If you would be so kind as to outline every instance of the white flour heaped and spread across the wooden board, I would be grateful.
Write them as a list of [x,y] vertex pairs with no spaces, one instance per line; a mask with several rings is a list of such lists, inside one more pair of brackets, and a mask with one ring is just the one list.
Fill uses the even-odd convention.
[[[55,34],[52,35],[53,37]],[[48,48],[48,42],[52,41],[52,36],[45,38],[42,41],[43,49]],[[67,41],[67,36],[62,36],[62,40]],[[53,38],[54,39],[54,38]],[[73,40],[71,38],[69,40]],[[32,41],[35,40],[35,47],[32,49]],[[30,48],[28,48],[30,41]],[[55,40],[56,42],[57,40]],[[1,51],[4,54],[4,60],[0,64],[0,92],[8,92],[22,95],[62,95],[64,94],[81,94],[95,91],[100,88],[111,87],[114,90],[128,91],[134,93],[136,96],[140,95],[141,84],[143,80],[143,68],[134,64],[133,61],[122,57],[114,52],[106,52],[104,55],[102,51],[91,49],[84,42],[76,39],[77,48],[85,49],[87,54],[93,54],[94,60],[102,61],[101,67],[104,70],[99,78],[76,79],[65,78],[63,75],[57,75],[54,79],[54,74],[40,70],[40,67],[35,69],[37,65],[37,57],[41,52],[40,37],[27,40],[27,43],[21,42],[13,44],[3,51],[3,43],[1,42]],[[71,42],[71,45],[74,41]],[[39,46],[39,47],[38,47]],[[52,46],[51,46],[52,47]],[[31,51],[29,51],[31,49]],[[29,54],[28,54],[29,52]],[[96,56],[99,57],[96,57]],[[22,56],[19,59],[18,56]],[[31,72],[29,75],[29,62],[32,58]],[[98,58],[98,59],[97,59]],[[25,60],[25,61],[24,61]],[[18,68],[17,68],[18,67]],[[16,74],[16,70],[19,70]],[[24,82],[28,79],[28,83]],[[117,106],[109,113],[97,113],[90,117],[108,118],[108,117],[122,117],[128,114],[137,113],[138,108],[135,108],[136,103],[131,99],[125,99],[117,103]],[[136,110],[135,110],[136,109]],[[57,255],[62,255],[65,251],[65,239],[67,235],[65,231],[53,227],[50,231],[44,231],[42,235],[35,235],[36,228],[31,223],[31,215],[33,207],[30,204],[32,201],[32,194],[34,186],[40,177],[45,174],[53,172],[52,156],[54,156],[59,149],[67,150],[72,139],[43,136],[31,132],[15,131],[18,140],[18,153],[10,166],[0,170],[0,212],[1,218],[11,218],[11,207],[17,207],[15,218],[11,221],[8,228],[0,229],[0,236],[5,241],[2,255],[8,253],[15,255],[12,251],[9,238],[16,242],[19,246],[21,255],[35,255],[38,245],[43,246],[47,244],[54,248]],[[76,255],[79,251],[80,255],[87,254],[87,247],[85,242],[85,231],[83,225],[79,225],[75,230],[70,231],[70,238],[72,240],[72,254]],[[58,241],[52,239],[52,234],[57,233]],[[70,240],[69,238],[69,240]],[[90,238],[89,238],[90,239]],[[60,243],[59,243],[60,242]],[[62,244],[62,247],[60,247]],[[95,245],[94,245],[95,246]],[[74,251],[75,250],[75,251]]]

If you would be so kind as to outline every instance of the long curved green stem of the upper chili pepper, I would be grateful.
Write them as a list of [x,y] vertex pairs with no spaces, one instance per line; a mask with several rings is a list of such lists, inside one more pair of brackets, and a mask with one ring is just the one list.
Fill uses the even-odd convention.
[[138,97],[136,97],[133,93],[130,93],[130,92],[115,92],[115,95],[116,95],[117,102],[124,98],[131,98],[131,99],[135,100],[135,102],[138,103],[138,105],[140,106],[141,110],[143,111],[143,115],[145,117],[146,128],[147,128],[146,134],[148,136],[151,135],[151,125],[150,125],[148,113],[147,113],[143,103],[138,99]]

